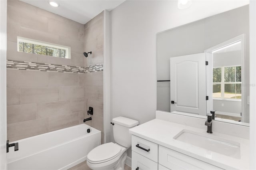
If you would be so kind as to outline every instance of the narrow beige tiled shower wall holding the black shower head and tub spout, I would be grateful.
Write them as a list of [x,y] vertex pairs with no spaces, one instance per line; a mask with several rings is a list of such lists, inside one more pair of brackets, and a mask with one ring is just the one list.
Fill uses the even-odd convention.
[[[103,129],[103,71],[91,72],[90,65],[103,65],[103,34],[104,34],[104,12],[101,12],[88,23],[84,28],[84,51],[92,51],[92,56],[84,59],[84,66],[88,68],[88,73],[84,74],[84,106],[85,111],[93,107],[94,115],[92,121],[86,122],[88,125],[101,130],[102,143],[104,143]],[[92,58],[90,58],[92,57]],[[87,71],[87,70],[86,70]],[[85,112],[85,118],[90,117]]]

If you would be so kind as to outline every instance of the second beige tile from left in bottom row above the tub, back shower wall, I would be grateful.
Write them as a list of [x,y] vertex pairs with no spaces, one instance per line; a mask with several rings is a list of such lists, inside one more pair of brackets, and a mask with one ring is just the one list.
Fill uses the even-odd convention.
[[49,117],[49,131],[78,125],[78,113]]

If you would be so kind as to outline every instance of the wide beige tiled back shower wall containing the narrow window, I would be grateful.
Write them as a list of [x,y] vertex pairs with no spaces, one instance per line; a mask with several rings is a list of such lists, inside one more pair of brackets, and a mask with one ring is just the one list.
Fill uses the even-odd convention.
[[[83,24],[21,1],[8,0],[7,3],[8,60],[84,69]],[[18,52],[17,36],[70,46],[71,59]],[[84,73],[74,70],[59,73],[57,69],[50,72],[31,68],[19,70],[15,64],[12,66],[14,69],[7,69],[7,133],[10,141],[83,123]]]

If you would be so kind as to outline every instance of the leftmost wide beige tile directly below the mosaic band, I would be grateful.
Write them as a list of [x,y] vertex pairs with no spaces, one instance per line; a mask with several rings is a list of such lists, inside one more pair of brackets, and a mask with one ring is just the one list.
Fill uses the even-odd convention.
[[48,85],[48,72],[7,69],[7,87],[42,87]]

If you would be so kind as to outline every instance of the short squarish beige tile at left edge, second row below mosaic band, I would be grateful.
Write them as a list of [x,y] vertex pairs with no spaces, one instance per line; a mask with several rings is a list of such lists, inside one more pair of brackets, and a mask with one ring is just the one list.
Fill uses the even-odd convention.
[[20,105],[20,88],[7,88],[7,106]]

